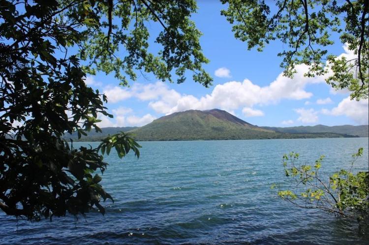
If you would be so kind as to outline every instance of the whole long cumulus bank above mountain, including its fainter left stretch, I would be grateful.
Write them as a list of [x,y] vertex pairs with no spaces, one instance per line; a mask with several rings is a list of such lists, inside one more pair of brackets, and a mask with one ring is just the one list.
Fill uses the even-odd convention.
[[[305,91],[308,84],[324,82],[322,77],[305,77],[306,65],[297,65],[294,78],[279,74],[275,81],[268,86],[260,87],[245,79],[243,82],[230,81],[216,85],[213,91],[201,97],[181,94],[170,89],[167,84],[156,82],[151,84],[134,84],[130,89],[122,87],[108,87],[104,93],[108,101],[116,103],[124,99],[135,97],[142,101],[149,101],[149,107],[160,114],[171,114],[185,110],[208,110],[219,108],[234,111],[240,108],[252,108],[255,105],[276,104],[281,99],[307,99],[311,92]],[[247,110],[247,109],[246,109]],[[253,109],[251,109],[253,110]],[[262,116],[263,112],[246,112],[247,115]]]

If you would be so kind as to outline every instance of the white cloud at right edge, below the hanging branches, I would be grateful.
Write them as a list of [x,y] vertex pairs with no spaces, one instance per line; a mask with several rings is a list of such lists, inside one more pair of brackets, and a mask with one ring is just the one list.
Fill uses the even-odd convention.
[[337,107],[332,110],[322,109],[321,113],[330,116],[340,116],[345,115],[357,123],[368,124],[368,114],[369,114],[369,100],[362,99],[359,101],[351,100],[348,96],[339,102]]

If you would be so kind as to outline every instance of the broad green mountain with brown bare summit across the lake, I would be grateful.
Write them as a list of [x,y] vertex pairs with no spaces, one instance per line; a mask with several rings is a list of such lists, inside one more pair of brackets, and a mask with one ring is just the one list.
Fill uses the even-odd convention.
[[136,140],[228,140],[350,137],[335,133],[290,134],[245,122],[226,111],[189,110],[173,113],[130,131]]

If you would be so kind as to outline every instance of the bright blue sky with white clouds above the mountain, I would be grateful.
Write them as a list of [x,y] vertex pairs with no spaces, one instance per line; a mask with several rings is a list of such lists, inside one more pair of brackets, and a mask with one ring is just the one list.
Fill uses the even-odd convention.
[[[368,124],[368,99],[350,100],[347,91],[335,91],[323,76],[304,77],[304,65],[296,67],[293,79],[284,77],[277,57],[282,43],[272,42],[263,52],[248,51],[220,15],[221,3],[203,0],[198,7],[192,19],[203,33],[200,44],[210,60],[204,68],[213,77],[213,86],[195,83],[190,73],[182,84],[138,74],[129,88],[120,86],[113,74],[89,75],[86,84],[107,95],[106,107],[114,115],[113,119],[99,116],[100,127],[142,126],[174,112],[214,108],[259,126]],[[157,33],[159,28],[152,25],[150,31]],[[332,54],[352,56],[338,36],[332,38]]]

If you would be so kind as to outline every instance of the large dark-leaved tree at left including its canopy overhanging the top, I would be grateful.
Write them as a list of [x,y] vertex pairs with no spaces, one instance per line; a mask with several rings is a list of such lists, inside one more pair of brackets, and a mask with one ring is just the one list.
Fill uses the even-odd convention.
[[[115,148],[119,157],[140,147],[121,133],[97,148],[76,149],[64,133],[86,135],[105,95],[86,86],[86,73],[114,72],[127,85],[137,71],[177,82],[185,71],[208,86],[208,62],[200,32],[190,21],[194,0],[0,0],[0,208],[9,215],[85,214],[111,195],[99,182],[107,163],[102,154]],[[149,52],[148,24],[162,31],[161,51]],[[75,53],[73,53],[75,51]],[[122,52],[124,51],[124,52]],[[121,54],[125,53],[125,56]],[[93,175],[94,174],[94,175]]]

